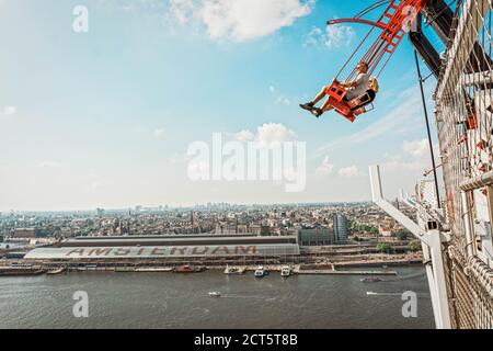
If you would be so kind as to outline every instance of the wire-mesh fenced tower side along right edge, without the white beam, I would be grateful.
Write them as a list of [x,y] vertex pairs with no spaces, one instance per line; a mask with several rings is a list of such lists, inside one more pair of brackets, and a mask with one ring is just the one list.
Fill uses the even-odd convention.
[[435,93],[450,240],[444,246],[451,324],[493,328],[492,3],[456,10]]

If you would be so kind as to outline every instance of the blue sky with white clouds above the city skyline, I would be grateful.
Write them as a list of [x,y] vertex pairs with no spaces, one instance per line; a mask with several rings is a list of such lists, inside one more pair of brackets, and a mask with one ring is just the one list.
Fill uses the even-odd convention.
[[[0,211],[368,201],[375,163],[387,197],[412,193],[431,161],[408,38],[355,123],[298,107],[369,30],[325,21],[371,2],[0,0]],[[191,179],[218,133],[302,143],[303,189]]]

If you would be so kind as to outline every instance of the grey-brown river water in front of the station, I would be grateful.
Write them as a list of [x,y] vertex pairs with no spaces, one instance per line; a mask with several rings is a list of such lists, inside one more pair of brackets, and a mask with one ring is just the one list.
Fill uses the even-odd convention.
[[[424,269],[397,271],[378,283],[218,271],[0,278],[0,328],[434,328]],[[88,293],[87,318],[73,317],[77,291]],[[417,295],[417,317],[402,316],[405,291]]]

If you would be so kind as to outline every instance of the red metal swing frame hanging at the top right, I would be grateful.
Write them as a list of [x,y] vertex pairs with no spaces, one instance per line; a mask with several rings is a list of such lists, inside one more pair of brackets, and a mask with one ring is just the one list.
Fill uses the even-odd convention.
[[[377,22],[371,22],[368,20],[360,19],[362,15],[368,13],[371,10],[375,10],[383,4],[388,3],[386,10],[380,15]],[[336,77],[339,77],[342,71],[349,64],[355,54],[359,50],[366,39],[370,36],[375,29],[380,29],[381,33],[371,47],[366,52],[363,58],[359,60],[360,63],[368,64],[368,73],[371,75],[378,67],[379,64],[385,59],[382,67],[380,68],[377,77],[381,73],[383,68],[387,66],[387,63],[392,57],[397,47],[401,43],[402,38],[406,33],[406,27],[404,22],[412,23],[421,10],[423,10],[426,0],[380,0],[372,5],[366,8],[362,12],[359,12],[353,19],[336,19],[328,21],[328,24],[337,24],[337,23],[363,23],[371,25],[371,30],[363,39],[363,42],[358,45],[356,50],[351,55],[349,59],[346,64],[341,68],[340,72]],[[411,11],[414,10],[414,11]],[[357,77],[357,70],[354,68],[348,75],[346,81],[352,82]],[[334,80],[332,84],[329,87],[326,93],[330,97],[330,103],[337,113],[349,120],[351,122],[355,118],[355,113],[351,110],[347,102],[343,101],[344,95],[346,94],[346,88],[341,86],[337,80]]]

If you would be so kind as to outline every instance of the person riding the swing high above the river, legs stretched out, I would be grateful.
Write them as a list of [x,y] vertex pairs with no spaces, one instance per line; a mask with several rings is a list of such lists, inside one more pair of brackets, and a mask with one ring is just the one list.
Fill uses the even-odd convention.
[[[370,76],[368,75],[368,64],[367,63],[359,63],[358,66],[356,66],[356,70],[358,72],[358,76],[356,79],[352,82],[343,81],[341,82],[341,86],[347,89],[346,94],[344,95],[344,101],[351,101],[363,93],[368,89],[368,83],[370,80]],[[335,81],[335,80],[334,80]],[[331,111],[334,107],[330,104],[329,98],[325,99],[321,107],[317,107],[317,104],[325,97],[328,95],[326,91],[330,88],[330,86],[325,86],[322,88],[322,90],[319,92],[319,94],[314,98],[313,101],[300,104],[299,106],[303,110],[308,110],[313,114],[316,117],[320,117],[324,112]]]

